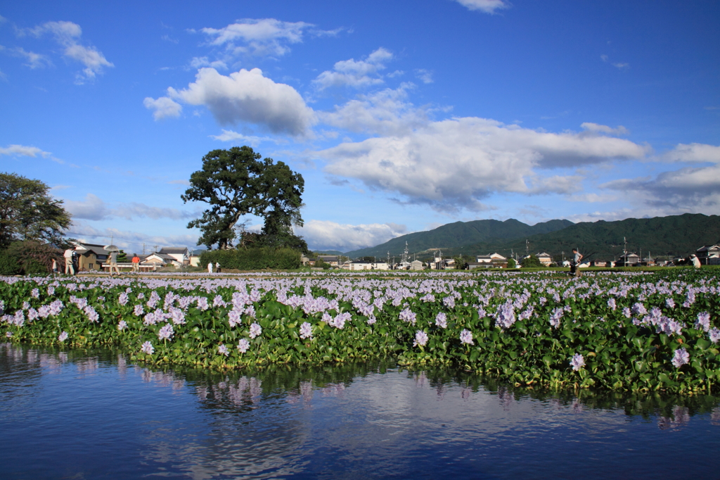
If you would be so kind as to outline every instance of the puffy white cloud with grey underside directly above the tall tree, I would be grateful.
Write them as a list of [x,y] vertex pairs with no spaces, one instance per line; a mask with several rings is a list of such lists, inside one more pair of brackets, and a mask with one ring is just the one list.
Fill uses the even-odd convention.
[[243,68],[229,76],[219,74],[215,68],[200,68],[194,83],[186,89],[170,87],[168,97],[150,101],[165,98],[204,105],[220,125],[246,122],[273,133],[304,135],[316,122],[315,112],[292,86],[276,84],[263,76],[259,68],[250,71]]

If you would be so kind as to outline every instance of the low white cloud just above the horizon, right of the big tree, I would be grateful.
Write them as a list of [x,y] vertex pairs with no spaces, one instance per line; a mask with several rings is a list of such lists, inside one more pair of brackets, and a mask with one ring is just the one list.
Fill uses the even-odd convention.
[[333,221],[311,220],[295,228],[313,250],[351,250],[382,244],[396,236],[407,234],[405,225],[396,223],[369,223],[349,225]]

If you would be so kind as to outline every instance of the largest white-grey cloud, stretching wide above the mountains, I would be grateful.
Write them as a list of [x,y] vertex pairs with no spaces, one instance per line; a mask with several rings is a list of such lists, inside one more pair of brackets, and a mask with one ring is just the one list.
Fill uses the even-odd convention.
[[341,143],[318,152],[325,171],[355,178],[411,203],[440,210],[487,210],[493,192],[576,191],[574,177],[542,179],[538,169],[637,159],[646,148],[620,138],[546,133],[477,117],[432,122],[403,135]]

